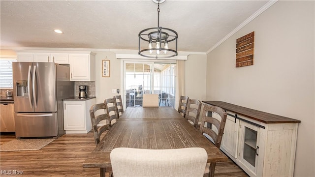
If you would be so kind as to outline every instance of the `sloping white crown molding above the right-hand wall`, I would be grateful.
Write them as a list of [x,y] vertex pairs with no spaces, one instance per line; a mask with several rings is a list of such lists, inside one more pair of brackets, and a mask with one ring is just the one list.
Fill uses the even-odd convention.
[[216,49],[218,46],[220,46],[225,40],[230,38],[233,34],[235,34],[237,31],[245,27],[247,24],[249,24],[253,19],[255,19],[258,15],[260,15],[262,12],[267,10],[269,7],[271,7],[274,3],[276,3],[278,0],[270,0],[268,1],[264,6],[262,6],[260,9],[258,9],[254,14],[252,14],[248,19],[246,19],[243,23],[241,23],[238,27],[233,29],[230,33],[228,33],[225,37],[223,37],[217,44],[215,44],[213,47],[211,47],[207,52],[206,55],[208,55],[211,51]]

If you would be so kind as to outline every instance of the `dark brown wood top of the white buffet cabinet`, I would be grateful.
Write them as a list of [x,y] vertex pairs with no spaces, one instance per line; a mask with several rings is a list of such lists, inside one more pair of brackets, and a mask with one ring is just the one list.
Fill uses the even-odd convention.
[[223,101],[202,101],[206,104],[219,106],[223,110],[236,113],[238,115],[245,116],[247,118],[252,118],[254,120],[263,122],[263,123],[300,123],[300,120],[293,118],[286,118],[283,116],[278,116],[270,113],[265,113],[262,111],[253,110],[250,108],[245,108],[242,106],[237,106],[234,104],[226,103]]

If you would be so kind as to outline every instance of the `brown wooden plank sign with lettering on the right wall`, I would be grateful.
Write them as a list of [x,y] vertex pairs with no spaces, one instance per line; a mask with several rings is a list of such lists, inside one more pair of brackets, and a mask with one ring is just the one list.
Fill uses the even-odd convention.
[[254,59],[254,31],[236,39],[235,67],[253,65]]

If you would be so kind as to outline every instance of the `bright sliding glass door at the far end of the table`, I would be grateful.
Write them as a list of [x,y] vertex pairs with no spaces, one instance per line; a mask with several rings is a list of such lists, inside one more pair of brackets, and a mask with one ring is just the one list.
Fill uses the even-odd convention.
[[159,94],[159,106],[174,107],[175,69],[173,62],[124,61],[126,108],[142,106],[143,94]]

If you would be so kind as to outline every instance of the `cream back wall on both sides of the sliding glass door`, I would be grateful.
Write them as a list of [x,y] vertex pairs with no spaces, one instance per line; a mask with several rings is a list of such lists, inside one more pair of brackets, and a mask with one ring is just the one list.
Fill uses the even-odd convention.
[[[112,89],[121,89],[121,59],[116,59],[113,52],[94,52],[95,55],[95,92],[96,103],[104,102],[117,93]],[[110,59],[110,77],[102,77],[102,60]],[[185,60],[185,89],[186,95],[191,99],[205,100],[206,97],[206,55],[189,55]],[[122,94],[122,92],[120,93]],[[177,109],[177,108],[176,108]]]

